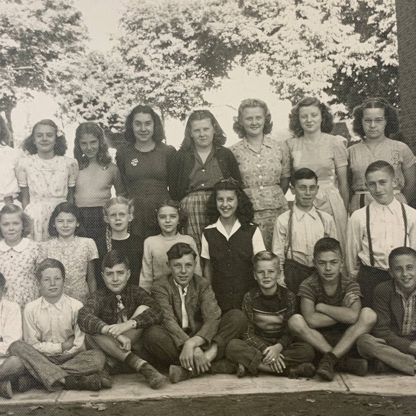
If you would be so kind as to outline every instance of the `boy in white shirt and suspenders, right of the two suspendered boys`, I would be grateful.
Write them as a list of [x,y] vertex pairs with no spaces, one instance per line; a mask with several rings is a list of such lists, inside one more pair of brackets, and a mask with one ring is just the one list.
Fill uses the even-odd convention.
[[394,168],[385,161],[371,163],[366,186],[374,201],[352,213],[347,230],[347,267],[372,306],[374,288],[390,280],[388,257],[396,247],[416,248],[416,210],[394,198]]

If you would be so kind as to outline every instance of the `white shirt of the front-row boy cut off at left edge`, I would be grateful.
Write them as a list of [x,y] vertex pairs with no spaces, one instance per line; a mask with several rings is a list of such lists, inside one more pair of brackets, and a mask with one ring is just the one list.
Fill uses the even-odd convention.
[[6,299],[0,301],[0,356],[7,353],[12,342],[22,339],[20,306]]

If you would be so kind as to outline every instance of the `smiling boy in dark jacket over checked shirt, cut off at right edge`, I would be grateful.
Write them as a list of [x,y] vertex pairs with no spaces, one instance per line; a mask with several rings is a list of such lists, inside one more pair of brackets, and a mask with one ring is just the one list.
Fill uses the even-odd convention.
[[357,349],[366,359],[376,358],[375,371],[392,369],[413,376],[416,369],[416,251],[398,247],[389,255],[392,280],[374,290],[377,323],[357,339]]

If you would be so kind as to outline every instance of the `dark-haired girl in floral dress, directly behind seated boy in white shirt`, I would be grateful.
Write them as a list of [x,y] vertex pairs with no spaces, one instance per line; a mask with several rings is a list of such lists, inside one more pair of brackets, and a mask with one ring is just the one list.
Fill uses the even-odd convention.
[[59,260],[65,266],[64,293],[84,302],[96,290],[94,259],[97,246],[92,238],[79,237],[82,218],[74,204],[62,202],[54,209],[49,221],[52,240],[40,244],[38,262],[45,258]]

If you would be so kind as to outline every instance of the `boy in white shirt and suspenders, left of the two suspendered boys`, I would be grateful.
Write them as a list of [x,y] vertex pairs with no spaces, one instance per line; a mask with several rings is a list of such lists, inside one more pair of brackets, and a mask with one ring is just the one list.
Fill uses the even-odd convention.
[[297,170],[290,178],[290,189],[295,203],[291,210],[277,217],[272,251],[279,258],[282,281],[296,295],[300,284],[315,272],[315,243],[323,237],[337,238],[337,229],[332,215],[314,206],[319,190],[314,171]]

